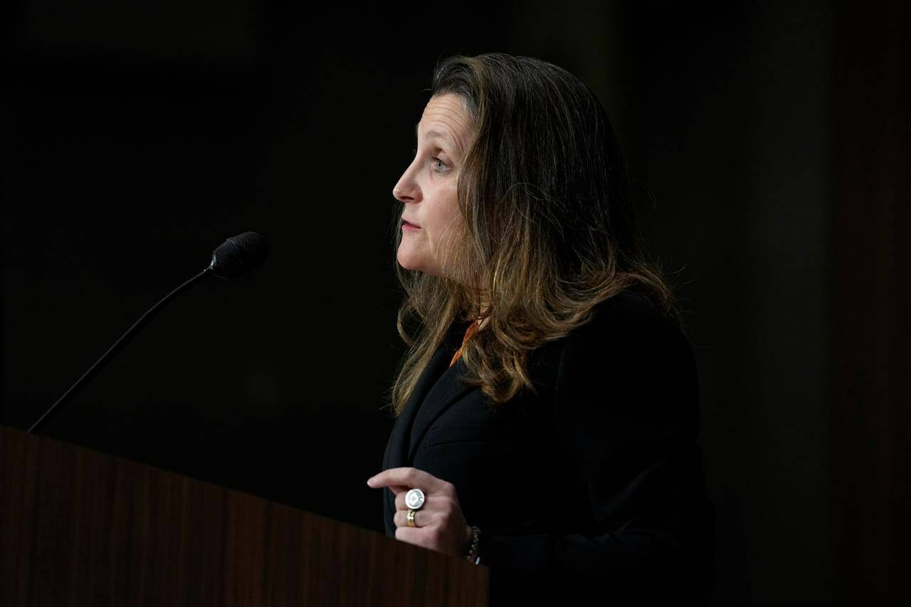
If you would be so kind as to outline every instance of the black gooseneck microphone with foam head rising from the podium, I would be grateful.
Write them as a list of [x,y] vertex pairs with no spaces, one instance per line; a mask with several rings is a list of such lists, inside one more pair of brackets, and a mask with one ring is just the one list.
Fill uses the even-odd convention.
[[57,398],[56,403],[51,405],[50,408],[45,411],[45,414],[39,417],[26,432],[28,434],[35,434],[40,427],[43,427],[50,421],[51,417],[59,412],[61,406],[69,402],[82,386],[87,384],[88,380],[96,376],[97,372],[107,364],[107,361],[109,361],[113,355],[117,354],[120,348],[126,345],[129,339],[136,334],[140,328],[148,323],[152,315],[158,312],[164,304],[167,304],[177,296],[178,293],[186,291],[190,286],[199,283],[208,276],[236,278],[258,266],[266,259],[268,253],[269,245],[266,243],[266,239],[255,231],[245,231],[237,236],[231,236],[228,240],[221,243],[219,247],[212,252],[209,267],[165,295],[158,304],[150,307],[148,311],[146,311],[146,314],[139,316],[138,321],[133,323],[133,325],[127,329],[126,333],[120,335],[120,338],[114,342],[114,345],[107,348],[107,352],[101,355],[97,361],[95,361],[94,365],[88,367],[88,370],[76,380],[76,383],[69,386],[69,389],[63,393],[63,396]]

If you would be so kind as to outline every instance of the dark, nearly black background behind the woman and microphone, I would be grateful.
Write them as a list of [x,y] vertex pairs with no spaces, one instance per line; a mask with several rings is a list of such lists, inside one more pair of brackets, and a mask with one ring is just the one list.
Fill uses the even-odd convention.
[[712,604],[906,604],[900,3],[6,3],[0,423],[25,428],[226,237],[46,435],[382,530],[392,188],[437,59],[589,84],[701,376]]

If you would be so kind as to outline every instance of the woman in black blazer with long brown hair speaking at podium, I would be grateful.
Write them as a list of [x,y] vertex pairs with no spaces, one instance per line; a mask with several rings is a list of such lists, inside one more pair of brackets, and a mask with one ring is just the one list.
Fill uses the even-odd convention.
[[393,194],[386,533],[489,566],[492,605],[705,602],[695,360],[598,99],[537,59],[449,57]]

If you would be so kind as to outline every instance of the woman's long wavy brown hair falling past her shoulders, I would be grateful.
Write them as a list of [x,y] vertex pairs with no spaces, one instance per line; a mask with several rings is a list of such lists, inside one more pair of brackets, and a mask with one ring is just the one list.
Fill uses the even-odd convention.
[[[441,253],[446,277],[394,262],[404,289],[396,327],[409,347],[388,393],[395,416],[454,320],[486,318],[462,359],[463,381],[482,386],[489,406],[523,386],[534,391],[528,352],[621,291],[646,294],[682,330],[676,298],[645,256],[626,162],[589,87],[546,61],[488,53],[438,62],[431,97],[445,93],[461,98],[474,127],[457,176],[464,233]],[[405,329],[413,316],[414,335]]]

